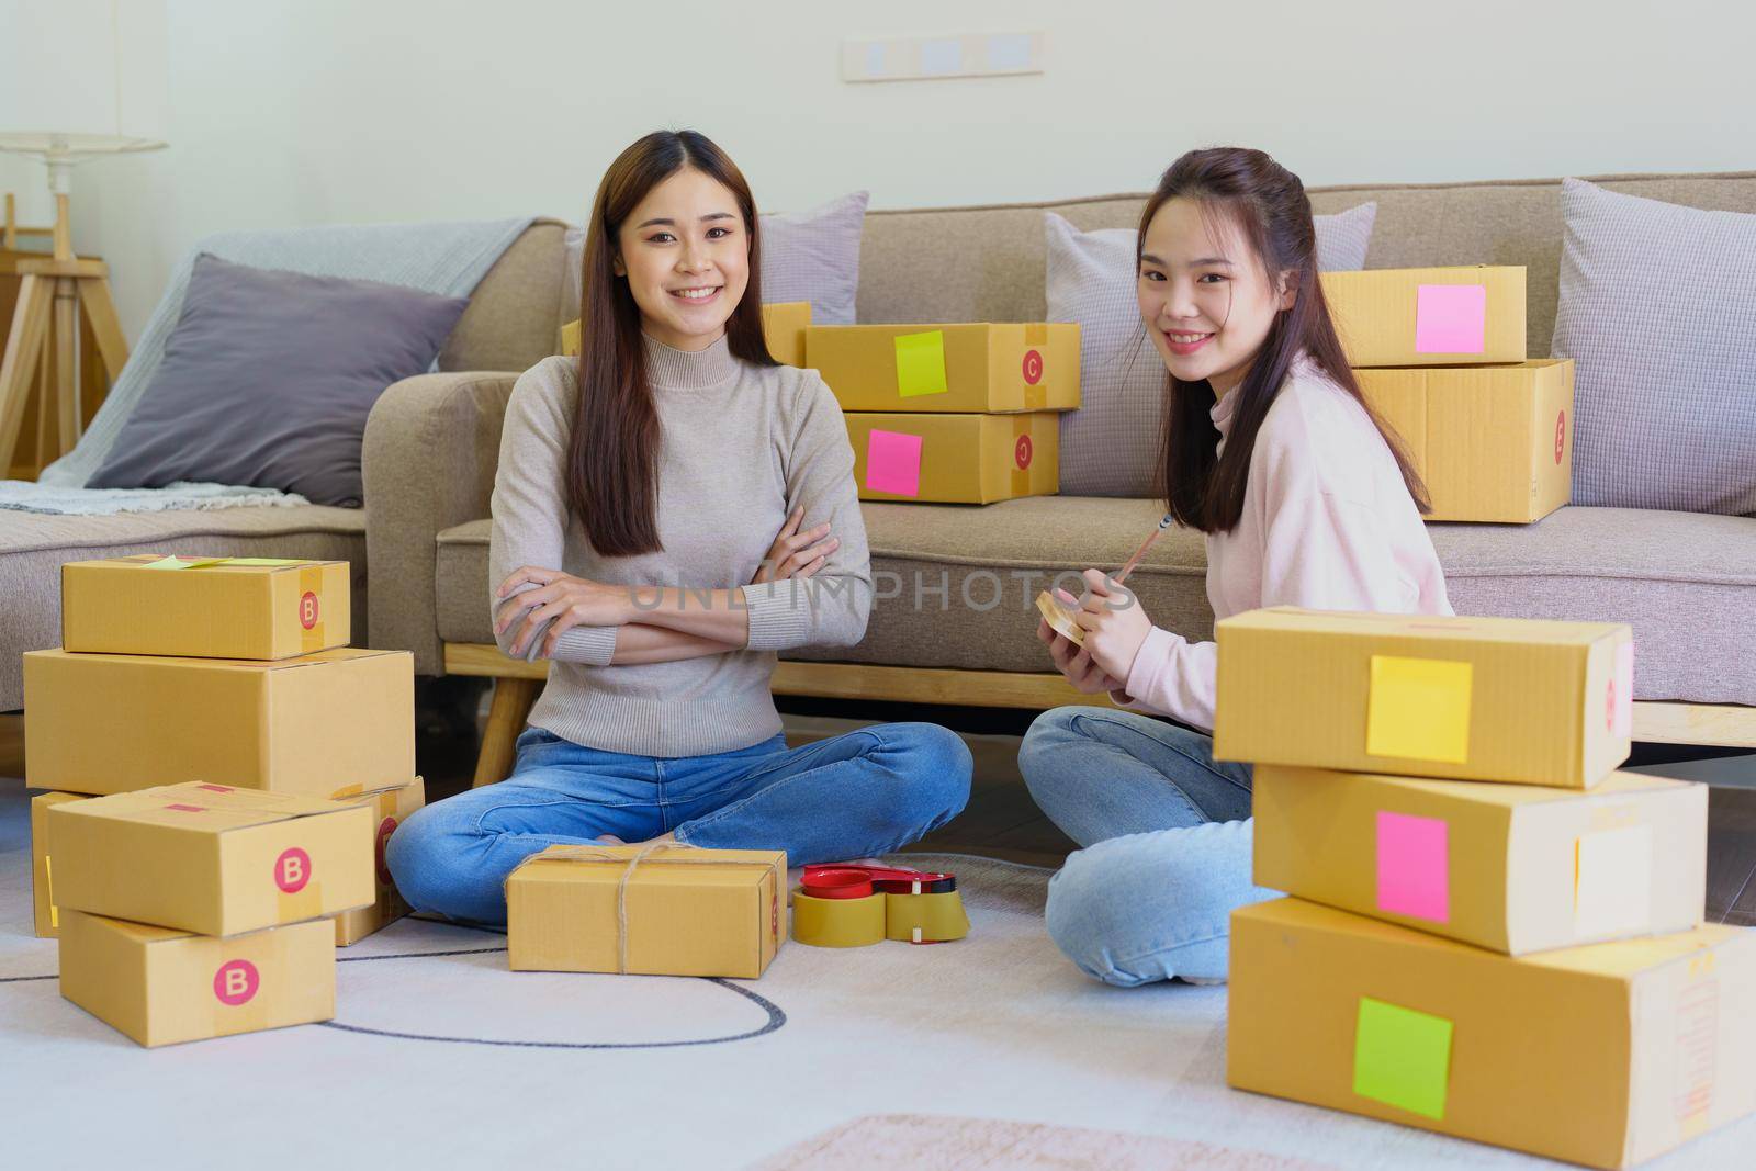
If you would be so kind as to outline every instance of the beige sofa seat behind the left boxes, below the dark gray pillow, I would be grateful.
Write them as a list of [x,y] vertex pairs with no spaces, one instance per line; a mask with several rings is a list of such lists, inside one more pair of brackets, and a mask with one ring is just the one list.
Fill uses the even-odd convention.
[[61,644],[61,564],[135,553],[348,562],[353,644],[369,646],[362,509],[300,504],[116,516],[0,511],[0,590],[9,599],[0,623],[0,711],[25,706],[19,657]]

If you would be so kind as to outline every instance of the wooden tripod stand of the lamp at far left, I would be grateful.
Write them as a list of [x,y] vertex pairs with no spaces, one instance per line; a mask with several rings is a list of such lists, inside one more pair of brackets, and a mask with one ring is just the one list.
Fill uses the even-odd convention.
[[[30,232],[26,228],[26,232]],[[12,223],[12,200],[7,197],[5,235],[11,244],[18,235]],[[23,283],[18,307],[12,311],[12,330],[0,360],[0,469],[12,465],[18,449],[19,427],[25,421],[25,404],[33,384],[42,388],[39,400],[39,465],[67,455],[79,442],[83,413],[76,351],[79,346],[79,313],[84,309],[97,339],[97,360],[105,372],[105,383],[116,381],[128,362],[128,341],[116,318],[116,302],[109,290],[109,265],[102,260],[81,260],[74,255],[72,228],[67,214],[67,197],[54,197],[54,253],[42,260],[23,260],[18,265]],[[51,372],[53,370],[53,372]],[[40,376],[40,377],[39,377]],[[60,421],[51,437],[49,420]]]

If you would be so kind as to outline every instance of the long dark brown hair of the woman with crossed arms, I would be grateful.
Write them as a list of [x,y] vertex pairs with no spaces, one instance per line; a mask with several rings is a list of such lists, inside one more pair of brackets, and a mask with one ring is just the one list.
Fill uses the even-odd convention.
[[567,506],[599,557],[657,553],[658,406],[646,381],[641,309],[615,262],[622,225],[646,195],[694,167],[738,200],[750,241],[750,283],[725,321],[734,358],[774,365],[762,337],[762,253],[757,205],[736,163],[694,130],[657,130],[609,163],[585,233],[579,298],[579,407],[567,441]]

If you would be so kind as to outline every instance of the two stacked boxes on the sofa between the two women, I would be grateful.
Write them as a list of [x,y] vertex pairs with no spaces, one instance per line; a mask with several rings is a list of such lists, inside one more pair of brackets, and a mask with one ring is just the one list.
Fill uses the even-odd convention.
[[1061,488],[1057,411],[1080,406],[1078,325],[813,325],[862,500],[992,504]]

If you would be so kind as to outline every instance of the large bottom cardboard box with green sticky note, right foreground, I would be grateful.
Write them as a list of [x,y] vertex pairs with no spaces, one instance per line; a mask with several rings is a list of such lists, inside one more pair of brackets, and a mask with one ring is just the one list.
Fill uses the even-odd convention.
[[1756,1108],[1756,932],[1510,959],[1301,899],[1231,918],[1226,1080],[1626,1167]]

